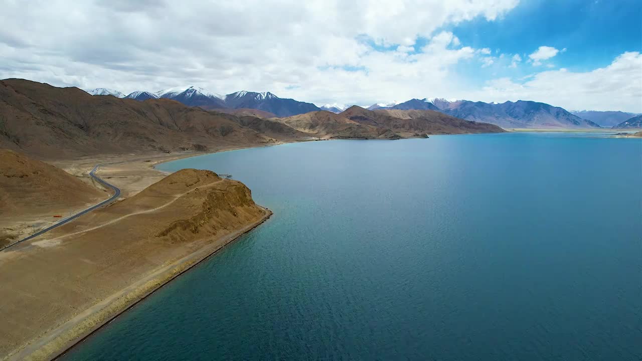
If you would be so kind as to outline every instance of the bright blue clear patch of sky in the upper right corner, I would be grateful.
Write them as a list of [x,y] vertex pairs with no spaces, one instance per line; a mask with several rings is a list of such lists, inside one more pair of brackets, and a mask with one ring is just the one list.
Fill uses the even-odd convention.
[[[611,64],[625,51],[642,51],[642,1],[527,0],[499,21],[477,18],[446,28],[473,48],[517,53],[523,58],[542,45],[566,48],[551,64],[590,71]],[[529,70],[505,69],[505,74],[525,76]],[[473,74],[480,82],[492,76]]]

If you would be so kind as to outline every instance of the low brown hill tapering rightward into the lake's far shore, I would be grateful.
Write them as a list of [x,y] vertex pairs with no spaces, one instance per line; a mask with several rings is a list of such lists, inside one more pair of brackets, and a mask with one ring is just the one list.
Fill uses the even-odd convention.
[[340,115],[358,123],[390,128],[404,137],[413,136],[413,134],[500,133],[505,131],[496,125],[467,121],[435,110],[367,110],[354,105]]

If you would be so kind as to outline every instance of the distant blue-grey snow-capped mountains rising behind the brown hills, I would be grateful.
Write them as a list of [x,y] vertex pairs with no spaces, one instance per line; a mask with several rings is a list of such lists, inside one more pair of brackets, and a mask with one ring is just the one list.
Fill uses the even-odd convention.
[[[97,93],[116,92],[111,89]],[[136,91],[124,98],[135,100],[148,100],[153,98],[168,98],[180,101],[191,107],[202,107],[204,109],[256,109],[274,114],[277,117],[295,116],[327,110],[335,114],[347,110],[345,105],[324,104],[317,107],[313,103],[297,101],[291,98],[279,98],[272,92],[237,91],[221,95],[208,91],[194,85],[188,87],[174,87],[164,91]],[[601,125],[592,119],[599,116],[578,116],[561,107],[555,107],[547,103],[530,100],[505,101],[504,103],[485,103],[483,101],[454,100],[446,98],[413,98],[407,101],[392,101],[390,103],[376,103],[370,105],[367,110],[396,109],[396,110],[436,110],[444,114],[455,116],[470,121],[481,121],[492,123],[505,128],[598,128]],[[594,112],[593,112],[594,113]],[[620,112],[622,114],[627,114]],[[619,117],[619,118],[618,118]],[[604,123],[604,126],[612,127],[625,120],[618,115]],[[591,119],[587,119],[591,118]]]

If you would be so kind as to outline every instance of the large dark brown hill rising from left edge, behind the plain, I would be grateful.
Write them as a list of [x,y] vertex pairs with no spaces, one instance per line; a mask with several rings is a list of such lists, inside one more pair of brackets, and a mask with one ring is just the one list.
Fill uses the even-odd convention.
[[135,101],[28,80],[0,81],[0,147],[39,157],[205,150],[277,140],[283,139],[243,127],[235,116],[173,100]]

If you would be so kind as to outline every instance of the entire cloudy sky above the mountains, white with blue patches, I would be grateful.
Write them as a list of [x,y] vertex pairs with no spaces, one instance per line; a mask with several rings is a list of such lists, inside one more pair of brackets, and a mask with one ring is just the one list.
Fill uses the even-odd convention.
[[0,78],[642,112],[639,0],[0,0]]

